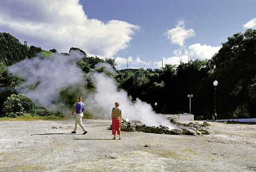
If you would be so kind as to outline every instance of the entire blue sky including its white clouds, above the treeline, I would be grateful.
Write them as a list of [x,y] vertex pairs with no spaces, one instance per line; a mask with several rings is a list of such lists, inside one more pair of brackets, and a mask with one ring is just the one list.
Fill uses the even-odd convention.
[[256,29],[255,0],[0,0],[0,32],[28,45],[114,58],[117,69],[210,59]]

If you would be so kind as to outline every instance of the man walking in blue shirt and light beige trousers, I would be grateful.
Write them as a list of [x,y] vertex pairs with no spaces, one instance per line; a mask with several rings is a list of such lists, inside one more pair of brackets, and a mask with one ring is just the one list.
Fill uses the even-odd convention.
[[83,111],[85,110],[85,105],[82,102],[82,97],[78,97],[77,98],[77,104],[76,107],[74,108],[73,112],[71,113],[71,116],[73,116],[73,114],[76,112],[77,117],[76,117],[76,123],[75,123],[75,128],[74,131],[72,131],[71,133],[76,134],[77,133],[77,125],[79,125],[82,130],[83,130],[83,134],[87,133],[86,128],[84,127],[83,123],[82,123],[82,118],[83,118]]

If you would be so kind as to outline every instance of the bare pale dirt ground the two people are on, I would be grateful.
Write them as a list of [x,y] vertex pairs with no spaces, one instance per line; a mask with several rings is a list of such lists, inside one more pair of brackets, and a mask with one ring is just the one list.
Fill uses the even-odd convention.
[[111,121],[83,119],[83,123],[88,130],[85,135],[81,128],[70,134],[74,119],[1,121],[0,171],[256,171],[253,124],[209,122],[215,134],[122,132],[122,140],[112,140]]

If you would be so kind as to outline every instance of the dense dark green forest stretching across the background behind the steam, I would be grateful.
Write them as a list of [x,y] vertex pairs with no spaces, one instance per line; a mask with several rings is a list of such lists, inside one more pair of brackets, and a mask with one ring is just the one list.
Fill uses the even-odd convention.
[[[70,48],[72,49],[84,53],[84,58],[78,60],[77,66],[85,74],[95,68],[97,63],[109,63],[116,70],[114,59],[89,57],[79,48]],[[12,35],[0,33],[0,117],[15,117],[23,112],[60,114],[37,107],[29,98],[18,94],[14,87],[21,84],[23,79],[8,73],[8,66],[25,58],[31,59],[38,53],[47,54],[40,47],[29,47],[26,41],[22,44]],[[52,49],[48,53],[58,52]],[[218,119],[229,119],[234,111],[238,112],[240,118],[255,117],[256,30],[248,29],[244,33],[228,37],[227,42],[222,43],[222,48],[211,59],[191,60],[179,65],[166,64],[160,69],[116,70],[116,74],[111,77],[114,78],[118,89],[125,90],[132,101],[139,98],[150,103],[157,113],[189,113],[191,110],[191,114],[204,116],[204,119],[211,119],[214,113],[213,82],[217,80],[215,100]],[[93,83],[88,81],[87,87],[93,88]],[[189,94],[193,94],[191,109],[187,97]],[[12,101],[17,97],[20,100],[19,105],[23,103],[23,107],[11,109],[13,112],[10,113]],[[29,107],[33,109],[24,108],[24,102],[29,102]]]

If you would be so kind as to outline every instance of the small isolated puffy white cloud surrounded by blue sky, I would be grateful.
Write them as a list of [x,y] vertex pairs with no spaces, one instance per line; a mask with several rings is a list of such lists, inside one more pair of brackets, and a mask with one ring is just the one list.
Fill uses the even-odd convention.
[[171,41],[172,44],[178,44],[183,46],[185,40],[195,36],[195,31],[193,29],[185,29],[185,21],[180,21],[175,28],[167,30],[165,35]]

